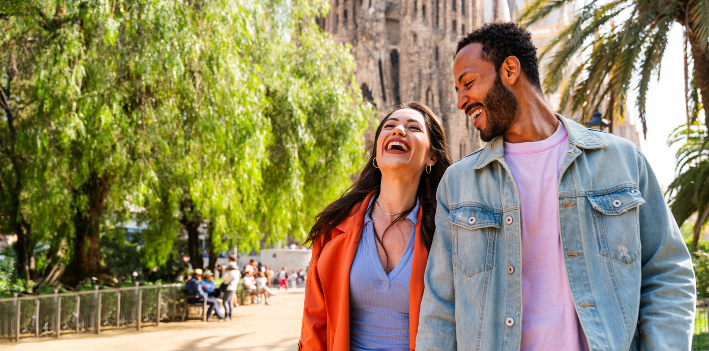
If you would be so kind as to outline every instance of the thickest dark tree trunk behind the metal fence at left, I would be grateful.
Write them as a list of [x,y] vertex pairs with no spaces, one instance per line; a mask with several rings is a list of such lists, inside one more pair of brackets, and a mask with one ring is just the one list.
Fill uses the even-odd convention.
[[[108,175],[92,173],[86,183],[74,192],[74,254],[65,272],[64,281],[77,285],[87,277],[98,277],[101,273],[101,219],[104,202],[111,189]],[[81,198],[86,196],[86,208],[79,207]]]

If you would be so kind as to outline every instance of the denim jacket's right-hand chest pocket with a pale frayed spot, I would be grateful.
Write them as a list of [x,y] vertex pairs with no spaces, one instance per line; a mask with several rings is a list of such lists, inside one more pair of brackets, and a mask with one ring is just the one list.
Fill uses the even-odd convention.
[[630,265],[640,256],[640,191],[627,187],[589,195],[601,255]]

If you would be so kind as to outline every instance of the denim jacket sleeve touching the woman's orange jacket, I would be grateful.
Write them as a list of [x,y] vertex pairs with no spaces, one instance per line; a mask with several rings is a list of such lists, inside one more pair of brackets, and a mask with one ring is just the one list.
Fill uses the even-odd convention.
[[416,336],[416,350],[456,350],[455,287],[452,224],[445,176],[437,191],[436,231],[424,275],[425,290]]

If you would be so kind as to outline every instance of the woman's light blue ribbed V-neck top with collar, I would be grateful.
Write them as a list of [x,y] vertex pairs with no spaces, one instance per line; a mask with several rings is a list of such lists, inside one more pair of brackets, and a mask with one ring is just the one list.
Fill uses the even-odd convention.
[[417,200],[406,217],[411,223],[411,237],[389,275],[376,253],[374,222],[370,216],[373,204],[374,198],[367,207],[362,237],[350,268],[350,350],[408,351],[408,294],[419,204]]

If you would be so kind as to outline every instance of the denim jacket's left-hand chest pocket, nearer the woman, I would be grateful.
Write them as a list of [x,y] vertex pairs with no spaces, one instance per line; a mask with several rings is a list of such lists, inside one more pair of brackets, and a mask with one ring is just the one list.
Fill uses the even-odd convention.
[[479,205],[452,206],[448,221],[454,224],[453,265],[466,277],[493,267],[497,229],[502,211]]

